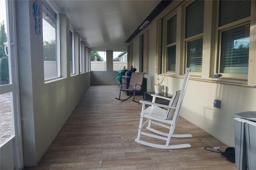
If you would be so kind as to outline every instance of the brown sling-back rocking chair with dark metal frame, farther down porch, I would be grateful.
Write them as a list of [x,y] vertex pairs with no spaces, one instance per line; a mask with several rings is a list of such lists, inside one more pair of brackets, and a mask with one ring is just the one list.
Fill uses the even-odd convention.
[[[132,73],[128,89],[126,89],[126,83],[122,83],[120,85],[119,98],[116,98],[116,99],[121,101],[126,101],[130,99],[133,95],[132,101],[139,103],[138,101],[135,101],[136,93],[137,94],[142,93],[142,96],[144,99],[144,90],[142,87],[143,77],[144,77],[144,73]],[[121,99],[121,91],[126,91],[130,93],[130,97],[128,97],[127,99]]]

